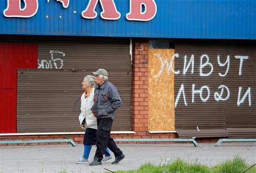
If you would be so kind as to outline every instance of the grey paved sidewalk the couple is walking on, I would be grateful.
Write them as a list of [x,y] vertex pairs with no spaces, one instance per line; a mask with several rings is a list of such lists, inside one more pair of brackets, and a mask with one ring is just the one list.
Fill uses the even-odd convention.
[[[197,160],[206,165],[215,165],[239,155],[248,164],[256,163],[255,142],[222,143],[220,147],[215,147],[215,143],[199,143],[198,147],[191,143],[122,144],[118,147],[126,156],[122,162],[118,165],[103,163],[94,167],[75,163],[82,156],[83,145],[0,147],[0,172],[107,172],[104,168],[111,171],[137,169],[144,163],[161,164],[178,157],[188,162]],[[95,150],[96,147],[92,147],[89,160]]]

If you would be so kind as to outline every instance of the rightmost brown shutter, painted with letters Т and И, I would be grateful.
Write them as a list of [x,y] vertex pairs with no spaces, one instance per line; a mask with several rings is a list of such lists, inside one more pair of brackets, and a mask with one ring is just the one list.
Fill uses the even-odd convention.
[[[256,138],[256,45],[236,44],[227,45],[226,55],[232,57],[231,67],[226,76],[226,85],[232,95],[226,102],[226,128],[230,138]],[[244,60],[239,75],[240,59],[234,56],[248,56]],[[248,95],[244,103],[237,105],[239,87],[240,99],[247,89],[251,88],[251,106]]]

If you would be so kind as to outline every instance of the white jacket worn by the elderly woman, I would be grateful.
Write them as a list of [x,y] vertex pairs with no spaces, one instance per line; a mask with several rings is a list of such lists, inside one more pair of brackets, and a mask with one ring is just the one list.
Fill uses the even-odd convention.
[[97,118],[93,116],[91,107],[93,105],[93,96],[94,96],[94,88],[92,89],[90,95],[84,98],[84,94],[81,96],[81,113],[79,115],[80,125],[82,124],[84,118],[86,121],[86,128],[94,128],[97,129]]

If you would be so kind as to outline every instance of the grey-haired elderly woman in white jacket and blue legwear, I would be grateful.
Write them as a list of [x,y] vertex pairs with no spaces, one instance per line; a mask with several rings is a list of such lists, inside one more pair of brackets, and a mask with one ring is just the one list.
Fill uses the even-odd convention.
[[[76,163],[88,163],[89,154],[91,152],[92,145],[96,145],[96,133],[97,133],[97,118],[93,116],[91,107],[93,105],[93,96],[95,82],[94,77],[87,75],[82,82],[82,88],[84,93],[81,96],[81,113],[79,115],[80,126],[85,130],[84,134],[84,154]],[[112,160],[109,149],[105,151],[105,157],[102,162],[108,162]]]

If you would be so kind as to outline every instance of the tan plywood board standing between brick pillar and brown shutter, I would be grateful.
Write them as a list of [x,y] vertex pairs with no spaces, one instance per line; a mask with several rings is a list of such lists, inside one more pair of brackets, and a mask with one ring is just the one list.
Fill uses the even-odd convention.
[[149,50],[149,131],[174,131],[174,49]]

